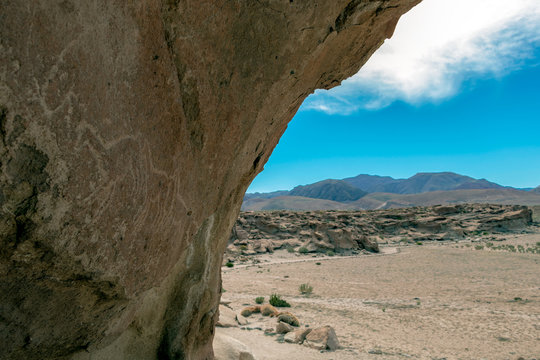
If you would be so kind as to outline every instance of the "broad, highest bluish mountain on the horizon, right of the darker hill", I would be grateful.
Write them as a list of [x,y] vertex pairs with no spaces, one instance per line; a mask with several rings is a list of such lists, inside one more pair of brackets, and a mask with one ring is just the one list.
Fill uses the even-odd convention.
[[430,191],[503,188],[485,179],[478,180],[452,172],[418,173],[408,179],[358,175],[343,180],[369,193],[419,194]]

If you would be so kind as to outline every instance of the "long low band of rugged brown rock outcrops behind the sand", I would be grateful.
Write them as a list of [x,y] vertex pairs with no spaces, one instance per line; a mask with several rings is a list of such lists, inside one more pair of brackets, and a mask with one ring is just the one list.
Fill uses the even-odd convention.
[[518,205],[448,205],[374,211],[242,212],[227,248],[254,255],[290,248],[308,252],[378,252],[378,241],[455,240],[483,233],[519,232],[532,211]]

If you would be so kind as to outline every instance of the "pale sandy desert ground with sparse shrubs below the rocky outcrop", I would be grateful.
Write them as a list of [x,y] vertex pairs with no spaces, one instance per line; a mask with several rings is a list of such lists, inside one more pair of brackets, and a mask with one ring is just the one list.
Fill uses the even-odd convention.
[[[540,233],[507,236],[495,246],[537,242]],[[486,243],[388,246],[383,255],[347,258],[281,252],[224,268],[223,298],[233,309],[279,293],[303,326],[334,327],[342,349],[321,353],[261,330],[217,331],[259,360],[540,359],[540,255],[493,251]],[[302,283],[313,286],[311,296],[299,294]]]

